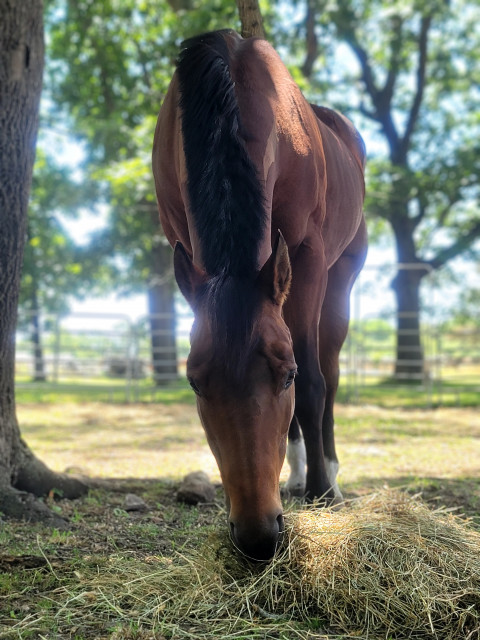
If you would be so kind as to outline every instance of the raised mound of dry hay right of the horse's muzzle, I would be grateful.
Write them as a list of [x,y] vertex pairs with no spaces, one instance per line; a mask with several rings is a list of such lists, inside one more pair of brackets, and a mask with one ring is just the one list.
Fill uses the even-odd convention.
[[369,637],[479,638],[480,534],[390,491],[294,514],[265,607]]

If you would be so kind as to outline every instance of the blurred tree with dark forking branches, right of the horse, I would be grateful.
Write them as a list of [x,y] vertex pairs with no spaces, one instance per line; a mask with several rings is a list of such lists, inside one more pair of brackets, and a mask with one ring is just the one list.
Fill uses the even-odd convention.
[[361,114],[362,126],[385,149],[370,152],[366,211],[389,225],[399,265],[414,267],[399,269],[392,283],[396,374],[419,376],[420,285],[431,270],[479,249],[480,6],[468,0],[304,6],[304,73],[357,124]]

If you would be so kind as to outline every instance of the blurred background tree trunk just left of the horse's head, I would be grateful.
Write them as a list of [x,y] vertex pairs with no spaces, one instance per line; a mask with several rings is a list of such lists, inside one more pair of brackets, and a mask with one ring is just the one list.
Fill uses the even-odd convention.
[[152,348],[153,377],[157,386],[178,379],[175,318],[175,285],[172,249],[159,235],[158,213],[152,210],[157,241],[152,251],[152,274],[148,287],[148,312]]

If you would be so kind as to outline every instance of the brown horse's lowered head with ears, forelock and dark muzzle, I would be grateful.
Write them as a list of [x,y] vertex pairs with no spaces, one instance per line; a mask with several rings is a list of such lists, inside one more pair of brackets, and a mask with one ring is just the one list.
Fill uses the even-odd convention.
[[174,262],[195,313],[187,376],[222,476],[232,539],[245,555],[268,560],[283,531],[279,476],[297,371],[282,316],[288,249],[279,235],[254,278],[208,278],[181,245]]

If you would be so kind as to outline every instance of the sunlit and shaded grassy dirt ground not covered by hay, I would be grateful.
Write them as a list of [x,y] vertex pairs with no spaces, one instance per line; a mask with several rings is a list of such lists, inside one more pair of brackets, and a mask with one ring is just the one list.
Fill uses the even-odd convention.
[[[0,638],[190,637],[185,629],[175,635],[174,625],[152,632],[148,616],[135,622],[138,604],[123,596],[115,604],[113,595],[122,593],[126,567],[144,576],[169,558],[188,562],[200,545],[227,530],[218,470],[195,407],[24,405],[18,417],[23,437],[40,458],[55,470],[89,476],[94,488],[73,501],[55,493],[48,497],[50,508],[68,520],[63,531],[0,516]],[[475,410],[340,406],[337,443],[346,498],[400,487],[434,509],[453,510],[480,525]],[[198,506],[177,502],[181,478],[199,469],[215,483],[215,500]],[[282,480],[287,474],[285,468]],[[129,511],[127,494],[140,498],[144,508]],[[100,602],[106,580],[113,595]],[[235,637],[328,638],[308,625],[293,635],[270,634],[262,625],[271,623],[260,620],[250,635]],[[209,635],[204,622],[195,633],[192,638],[220,637]]]

